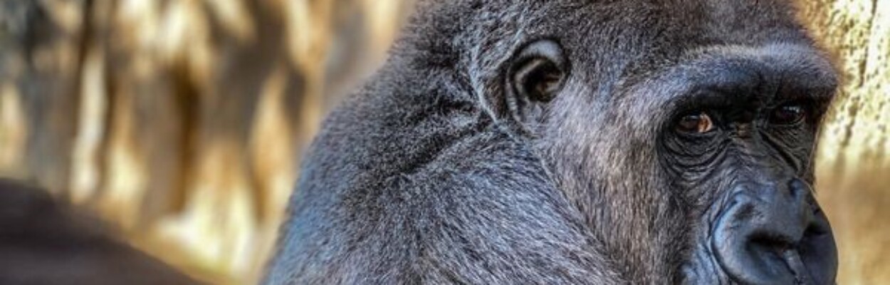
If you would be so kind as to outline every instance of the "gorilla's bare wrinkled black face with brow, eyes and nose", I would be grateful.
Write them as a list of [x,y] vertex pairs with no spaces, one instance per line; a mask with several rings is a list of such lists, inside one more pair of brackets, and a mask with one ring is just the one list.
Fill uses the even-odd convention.
[[630,87],[629,100],[656,101],[649,124],[660,127],[646,147],[661,180],[649,188],[682,193],[697,224],[684,229],[694,231],[687,281],[834,282],[836,248],[811,185],[835,88],[833,69],[804,45],[704,49]]

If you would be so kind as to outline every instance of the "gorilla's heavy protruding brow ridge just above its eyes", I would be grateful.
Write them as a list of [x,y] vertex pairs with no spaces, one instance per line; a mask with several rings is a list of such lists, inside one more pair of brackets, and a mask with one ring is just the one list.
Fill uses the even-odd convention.
[[713,45],[690,50],[663,69],[623,78],[615,99],[664,106],[706,90],[765,103],[803,96],[828,101],[836,88],[836,70],[810,45]]

